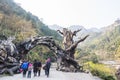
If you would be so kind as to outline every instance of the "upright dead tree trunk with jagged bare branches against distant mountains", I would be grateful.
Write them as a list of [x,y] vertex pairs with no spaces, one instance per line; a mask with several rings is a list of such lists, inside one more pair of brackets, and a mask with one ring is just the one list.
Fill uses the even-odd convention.
[[[73,60],[74,60],[74,54],[75,54],[75,49],[76,49],[77,45],[80,42],[84,41],[89,36],[89,35],[86,35],[84,38],[74,42],[73,36],[76,36],[77,32],[79,32],[79,31],[81,31],[81,29],[79,29],[77,31],[73,31],[73,32],[71,30],[68,30],[67,28],[63,28],[62,32],[60,30],[58,30],[58,32],[63,35],[63,45],[64,45],[64,49],[66,51],[66,55],[69,56],[70,58],[72,58]],[[64,65],[65,65],[65,67],[70,68],[70,64],[66,63]]]

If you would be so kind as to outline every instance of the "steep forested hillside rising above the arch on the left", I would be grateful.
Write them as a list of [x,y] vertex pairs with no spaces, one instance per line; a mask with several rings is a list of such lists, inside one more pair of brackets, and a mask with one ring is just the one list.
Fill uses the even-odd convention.
[[17,41],[34,35],[61,39],[56,31],[49,29],[37,16],[26,12],[13,0],[0,0],[0,35],[3,34],[15,36]]

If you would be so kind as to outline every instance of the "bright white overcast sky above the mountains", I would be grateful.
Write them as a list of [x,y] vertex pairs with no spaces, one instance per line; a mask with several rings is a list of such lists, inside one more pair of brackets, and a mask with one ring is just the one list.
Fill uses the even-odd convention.
[[120,18],[120,0],[14,0],[46,25],[101,28]]

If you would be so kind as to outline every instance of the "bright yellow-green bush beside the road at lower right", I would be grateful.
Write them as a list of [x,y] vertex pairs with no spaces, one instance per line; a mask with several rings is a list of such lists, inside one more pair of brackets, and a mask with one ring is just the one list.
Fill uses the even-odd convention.
[[104,64],[95,64],[93,62],[87,62],[86,64],[89,65],[89,70],[94,76],[98,76],[103,80],[116,80],[114,70],[106,67]]

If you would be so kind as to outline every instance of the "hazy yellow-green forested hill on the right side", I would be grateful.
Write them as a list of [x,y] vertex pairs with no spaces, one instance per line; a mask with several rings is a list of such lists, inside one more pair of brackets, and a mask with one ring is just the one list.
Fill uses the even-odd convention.
[[80,47],[104,59],[120,59],[120,20],[103,27],[101,32],[90,33]]

